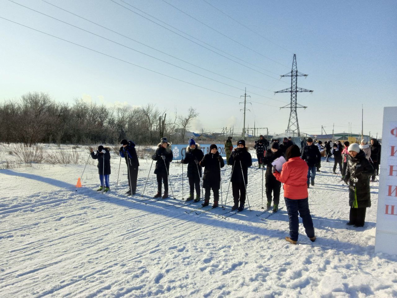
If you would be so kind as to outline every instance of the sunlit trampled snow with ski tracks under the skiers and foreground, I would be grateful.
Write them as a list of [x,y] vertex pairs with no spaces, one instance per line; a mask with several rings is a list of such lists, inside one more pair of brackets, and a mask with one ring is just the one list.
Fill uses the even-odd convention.
[[[298,245],[292,245],[284,240],[283,199],[276,214],[256,216],[262,197],[257,163],[249,168],[251,211],[227,219],[218,215],[232,205],[231,192],[226,210],[185,213],[199,203],[181,200],[177,163],[170,167],[177,199],[150,199],[156,193],[153,168],[141,197],[151,161],[140,163],[134,197],[123,195],[123,161],[116,192],[116,155],[108,194],[96,192],[96,165],[87,166],[77,192],[84,164],[0,170],[0,296],[397,297],[397,256],[374,253],[378,183],[371,186],[365,226],[346,226],[347,186],[331,174],[333,162],[323,161],[309,189],[317,240],[310,242],[301,226]],[[222,169],[224,201],[230,172],[230,166]]]

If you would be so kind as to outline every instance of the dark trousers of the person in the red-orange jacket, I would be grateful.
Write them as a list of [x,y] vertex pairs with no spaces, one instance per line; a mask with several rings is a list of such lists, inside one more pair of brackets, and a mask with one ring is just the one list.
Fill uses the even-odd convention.
[[306,199],[293,200],[284,197],[284,200],[285,200],[285,206],[287,207],[288,219],[289,219],[289,238],[291,238],[291,240],[298,241],[298,235],[299,235],[298,212],[302,218],[306,235],[309,238],[314,237],[314,227],[313,227],[312,216],[310,215],[308,198],[306,197]]

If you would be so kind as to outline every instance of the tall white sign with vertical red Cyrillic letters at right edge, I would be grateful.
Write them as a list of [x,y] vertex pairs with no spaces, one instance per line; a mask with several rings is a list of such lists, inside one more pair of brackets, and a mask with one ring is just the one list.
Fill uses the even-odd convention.
[[397,255],[397,107],[383,110],[375,252]]

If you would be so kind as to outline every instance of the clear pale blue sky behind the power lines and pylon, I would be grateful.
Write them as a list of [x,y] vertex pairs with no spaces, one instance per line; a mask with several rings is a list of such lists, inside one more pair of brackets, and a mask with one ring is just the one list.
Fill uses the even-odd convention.
[[[287,128],[289,109],[280,110],[279,107],[289,103],[290,95],[274,94],[272,91],[290,87],[289,78],[279,79],[279,75],[291,71],[294,53],[297,54],[298,71],[308,74],[306,79],[298,78],[298,86],[314,90],[312,94],[298,94],[298,103],[308,106],[298,112],[301,132],[320,133],[323,125],[326,132],[331,133],[333,123],[335,132],[347,132],[349,122],[353,123],[353,132],[360,132],[361,104],[364,104],[364,133],[371,131],[371,134],[378,132],[380,135],[383,107],[396,105],[396,1],[206,0],[260,33],[264,39],[203,0],[166,0],[250,50],[163,0],[123,0],[211,46],[251,63],[224,54],[259,71],[256,72],[183,39],[110,0],[46,0],[131,39],[243,83],[166,56],[41,0],[13,1],[198,74],[240,89],[247,87],[247,94],[255,103],[249,105],[251,111],[247,112],[246,126],[253,126],[255,119],[256,127],[268,127],[270,132],[281,133]],[[114,1],[138,12],[121,0]],[[8,0],[0,2],[0,16],[220,93],[235,97],[244,93]],[[148,15],[146,17],[152,19]],[[193,106],[200,113],[192,126],[193,131],[233,125],[235,130],[241,130],[243,126],[240,111],[243,106],[239,105],[237,98],[155,74],[4,19],[0,19],[0,26],[2,100],[20,97],[29,91],[44,91],[57,101],[66,102],[72,102],[75,97],[84,97],[98,103],[103,101],[110,106],[116,102],[132,106],[154,103],[160,110],[168,109],[170,114],[175,108],[179,113],[186,114],[189,106]]]

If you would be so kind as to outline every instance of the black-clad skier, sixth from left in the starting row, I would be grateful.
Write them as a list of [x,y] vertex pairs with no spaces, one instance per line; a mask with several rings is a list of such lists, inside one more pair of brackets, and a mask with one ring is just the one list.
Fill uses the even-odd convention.
[[231,210],[238,208],[238,211],[243,211],[248,183],[248,167],[252,166],[251,154],[248,152],[247,147],[245,147],[244,140],[237,142],[237,148],[230,154],[229,165],[232,166],[230,180],[234,201]]

